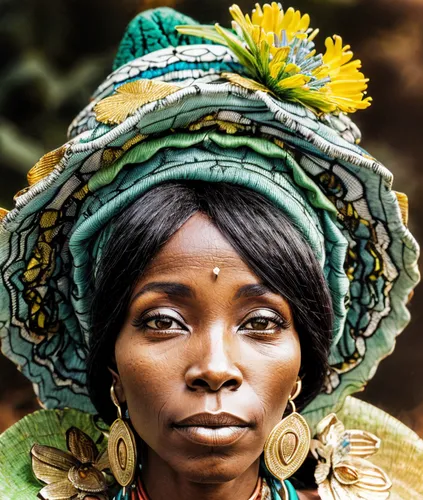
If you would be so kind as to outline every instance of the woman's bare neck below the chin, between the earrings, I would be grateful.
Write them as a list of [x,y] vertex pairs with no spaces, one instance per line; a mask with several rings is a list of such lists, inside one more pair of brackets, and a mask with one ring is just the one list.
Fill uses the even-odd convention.
[[249,500],[255,496],[259,460],[235,479],[208,483],[187,479],[152,452],[141,478],[148,500]]

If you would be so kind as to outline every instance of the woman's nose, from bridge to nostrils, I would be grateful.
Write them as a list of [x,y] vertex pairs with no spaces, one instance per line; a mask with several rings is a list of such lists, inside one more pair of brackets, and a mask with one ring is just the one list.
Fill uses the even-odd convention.
[[185,373],[187,386],[194,391],[216,392],[223,388],[238,389],[243,376],[233,362],[236,346],[222,331],[211,331],[201,336],[195,360]]

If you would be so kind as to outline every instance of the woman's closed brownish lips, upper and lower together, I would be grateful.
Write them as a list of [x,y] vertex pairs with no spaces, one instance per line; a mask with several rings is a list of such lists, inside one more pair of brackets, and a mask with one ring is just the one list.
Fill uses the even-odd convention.
[[230,413],[197,413],[173,425],[185,439],[203,446],[228,446],[248,432],[251,425]]

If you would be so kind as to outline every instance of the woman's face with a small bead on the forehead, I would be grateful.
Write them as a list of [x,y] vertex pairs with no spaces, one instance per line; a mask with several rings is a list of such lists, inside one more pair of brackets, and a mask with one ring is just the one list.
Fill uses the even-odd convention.
[[257,470],[301,363],[288,303],[200,213],[137,283],[115,358],[148,467],[203,483]]

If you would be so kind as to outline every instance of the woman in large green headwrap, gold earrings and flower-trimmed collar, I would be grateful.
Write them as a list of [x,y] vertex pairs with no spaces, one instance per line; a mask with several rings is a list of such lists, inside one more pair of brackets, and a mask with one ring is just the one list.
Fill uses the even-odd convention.
[[0,437],[2,499],[422,498],[422,441],[351,397],[419,279],[360,62],[230,13],[135,18],[1,214],[2,350],[44,407]]

